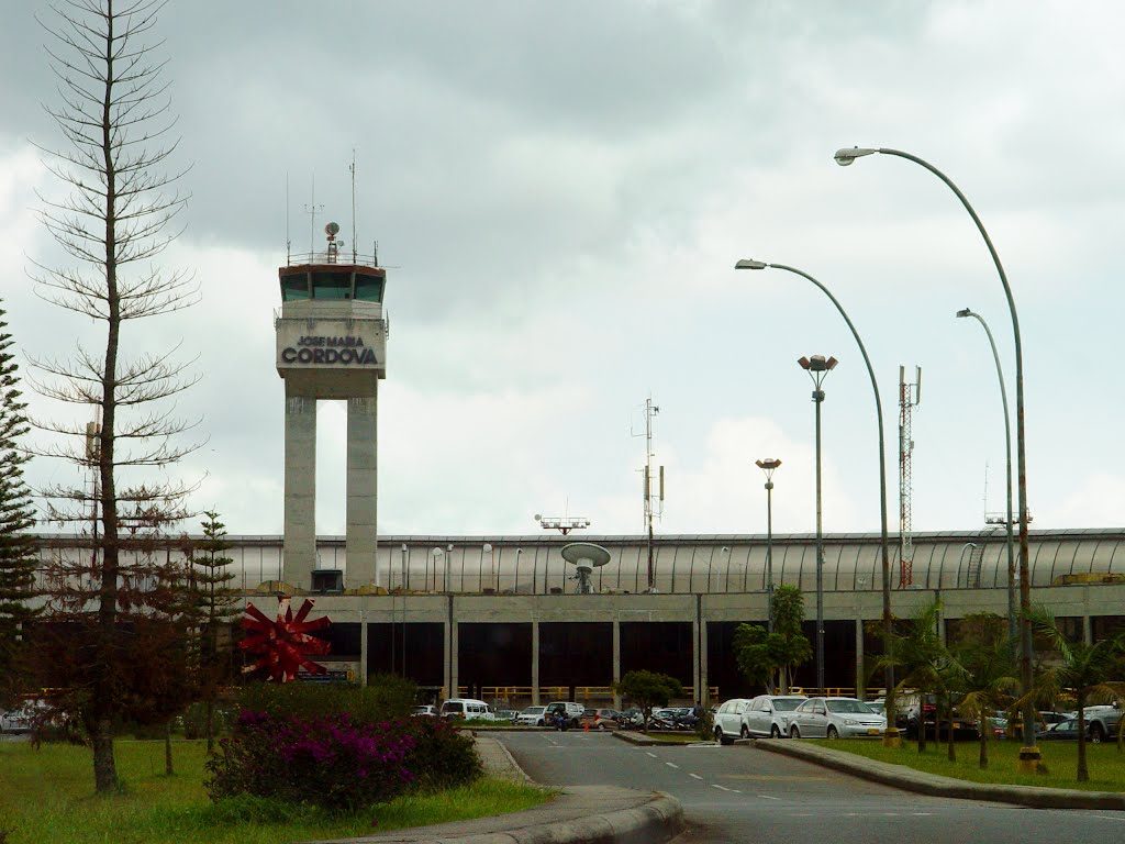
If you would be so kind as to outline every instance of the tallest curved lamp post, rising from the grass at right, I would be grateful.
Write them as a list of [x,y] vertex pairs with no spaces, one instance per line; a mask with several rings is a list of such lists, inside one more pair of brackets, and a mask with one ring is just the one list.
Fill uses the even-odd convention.
[[[1011,295],[1011,285],[1008,284],[1008,275],[1004,271],[1004,264],[1000,263],[1000,255],[996,251],[996,246],[992,245],[992,239],[988,236],[984,224],[976,216],[976,212],[969,204],[969,199],[961,192],[961,188],[953,183],[950,177],[928,161],[901,150],[854,146],[849,150],[837,150],[834,158],[837,164],[847,167],[856,159],[874,153],[894,155],[907,161],[912,161],[919,167],[929,170],[929,172],[945,182],[945,186],[956,195],[957,199],[965,207],[965,210],[969,212],[969,216],[973,218],[973,223],[976,224],[976,230],[981,233],[981,237],[984,239],[984,245],[988,246],[989,254],[992,255],[992,263],[996,264],[996,271],[1000,276],[1000,284],[1004,285],[1004,295],[1008,299],[1008,312],[1011,314],[1011,332],[1016,345],[1016,465],[1019,478],[1019,681],[1023,686],[1024,697],[1028,697],[1027,692],[1032,688],[1032,619],[1029,616],[1032,609],[1032,580],[1027,553],[1027,452],[1024,448],[1024,349],[1019,340],[1019,315],[1016,313],[1016,300]],[[1019,762],[1022,767],[1030,771],[1035,771],[1038,767],[1041,756],[1040,749],[1035,745],[1034,718],[1035,704],[1028,700],[1024,704],[1024,746],[1019,751]]]

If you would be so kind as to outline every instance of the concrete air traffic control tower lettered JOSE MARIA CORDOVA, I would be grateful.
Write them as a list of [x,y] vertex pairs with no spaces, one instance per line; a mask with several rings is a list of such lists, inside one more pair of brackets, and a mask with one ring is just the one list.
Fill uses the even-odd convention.
[[316,403],[348,402],[346,587],[376,578],[377,421],[379,379],[387,376],[386,270],[350,254],[341,261],[340,226],[324,227],[327,246],[278,270],[277,368],[285,379],[285,569],[302,590],[338,591],[336,569],[316,557]]

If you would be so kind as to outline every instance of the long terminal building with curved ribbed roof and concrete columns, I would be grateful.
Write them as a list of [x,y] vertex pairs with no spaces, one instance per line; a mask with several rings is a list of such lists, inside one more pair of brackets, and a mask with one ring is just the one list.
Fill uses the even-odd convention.
[[[766,537],[663,536],[647,591],[647,538],[585,537],[604,546],[609,565],[579,594],[560,549],[570,538],[387,536],[351,575],[349,537],[321,537],[315,568],[287,565],[282,537],[231,537],[233,584],[269,612],[279,593],[309,594],[314,614],[332,619],[328,667],[362,680],[395,673],[433,697],[484,697],[521,706],[556,698],[613,700],[611,685],[634,668],[672,674],[692,700],[755,691],[735,665],[740,622],[766,618]],[[892,542],[897,539],[892,537]],[[76,537],[43,537],[42,554],[84,554]],[[914,584],[892,590],[896,616],[939,599],[943,631],[956,636],[965,616],[1007,612],[1002,530],[916,533]],[[1125,628],[1125,529],[1035,530],[1030,533],[1032,600],[1050,608],[1074,639],[1096,640]],[[896,546],[897,547],[897,546]],[[868,681],[881,632],[878,533],[825,537],[825,637],[828,688],[847,693]],[[774,535],[775,583],[806,592],[810,640],[816,540]],[[316,584],[312,572],[339,572]],[[897,574],[897,572],[896,572]],[[300,578],[306,581],[300,583]],[[896,583],[896,585],[898,585]],[[796,682],[811,686],[814,666]]]

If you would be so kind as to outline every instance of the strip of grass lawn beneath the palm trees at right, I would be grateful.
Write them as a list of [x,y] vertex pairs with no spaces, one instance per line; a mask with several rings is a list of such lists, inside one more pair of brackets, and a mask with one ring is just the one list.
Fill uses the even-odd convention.
[[973,782],[1008,783],[1012,785],[1044,785],[1050,788],[1083,789],[1089,791],[1125,791],[1125,754],[1117,752],[1117,745],[1088,744],[1087,766],[1090,771],[1089,782],[1078,782],[1074,772],[1078,767],[1077,742],[1043,742],[1040,752],[1047,773],[1023,774],[1016,770],[1019,756],[1019,742],[989,742],[987,770],[978,767],[980,745],[976,742],[957,742],[957,761],[950,762],[946,757],[946,746],[927,744],[926,753],[918,753],[917,743],[903,742],[896,749],[883,747],[880,742],[860,739],[830,742],[825,745],[836,751],[847,751],[880,762],[892,762],[909,765],[927,773],[955,776]]

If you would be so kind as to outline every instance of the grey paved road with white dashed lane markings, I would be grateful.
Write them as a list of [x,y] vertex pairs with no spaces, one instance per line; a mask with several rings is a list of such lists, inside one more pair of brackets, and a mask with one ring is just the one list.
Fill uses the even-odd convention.
[[544,784],[656,789],[684,805],[677,844],[1109,844],[1125,812],[924,797],[752,747],[637,747],[610,735],[497,734]]

